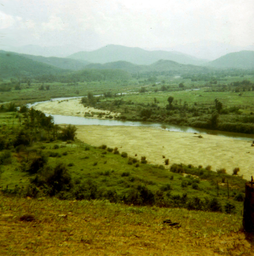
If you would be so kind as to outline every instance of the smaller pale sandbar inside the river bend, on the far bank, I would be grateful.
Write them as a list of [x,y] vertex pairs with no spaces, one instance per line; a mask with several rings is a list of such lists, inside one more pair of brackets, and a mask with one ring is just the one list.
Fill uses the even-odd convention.
[[80,101],[81,99],[68,99],[63,101],[43,102],[35,105],[33,108],[47,114],[62,116],[84,117],[86,114],[86,117],[98,118],[98,115],[101,113],[102,117],[100,119],[106,119],[106,116],[112,116],[111,119],[114,119],[115,116],[120,114],[91,107],[84,107]]

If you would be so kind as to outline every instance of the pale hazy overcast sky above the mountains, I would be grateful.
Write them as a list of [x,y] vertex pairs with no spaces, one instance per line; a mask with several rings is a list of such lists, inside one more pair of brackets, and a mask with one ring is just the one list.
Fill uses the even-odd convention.
[[253,0],[0,0],[0,48],[254,44]]

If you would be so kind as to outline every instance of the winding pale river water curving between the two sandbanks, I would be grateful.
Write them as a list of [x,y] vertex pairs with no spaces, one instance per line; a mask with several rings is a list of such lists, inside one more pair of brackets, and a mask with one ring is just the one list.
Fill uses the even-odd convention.
[[[55,98],[51,101],[60,101],[65,99],[77,99],[82,97],[67,97],[67,98]],[[40,104],[43,102],[35,102],[33,104],[28,104],[29,108]],[[167,131],[180,131],[187,133],[201,133],[201,134],[212,134],[221,137],[233,138],[238,140],[253,140],[254,134],[240,134],[232,132],[223,132],[223,131],[213,131],[207,129],[193,128],[188,126],[180,125],[165,125],[162,123],[150,123],[150,122],[131,122],[131,121],[120,121],[120,120],[111,120],[111,119],[95,119],[95,118],[86,118],[78,116],[61,116],[61,115],[51,115],[54,118],[55,124],[71,124],[71,125],[107,125],[107,126],[144,126],[144,127],[154,127],[154,128],[165,128]]]

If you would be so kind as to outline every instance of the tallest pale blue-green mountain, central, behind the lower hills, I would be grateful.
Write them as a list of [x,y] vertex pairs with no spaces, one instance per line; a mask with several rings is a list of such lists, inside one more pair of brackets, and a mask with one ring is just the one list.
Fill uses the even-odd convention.
[[138,47],[107,45],[91,52],[77,52],[68,58],[105,64],[114,61],[127,61],[137,65],[150,65],[161,59],[176,61],[181,64],[202,65],[207,60],[195,58],[181,52],[147,51]]

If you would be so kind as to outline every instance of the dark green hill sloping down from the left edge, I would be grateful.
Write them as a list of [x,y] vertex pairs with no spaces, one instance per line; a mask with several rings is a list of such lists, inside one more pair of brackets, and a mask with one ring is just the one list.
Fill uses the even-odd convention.
[[68,70],[33,61],[13,52],[0,51],[0,78],[54,75],[66,71]]

